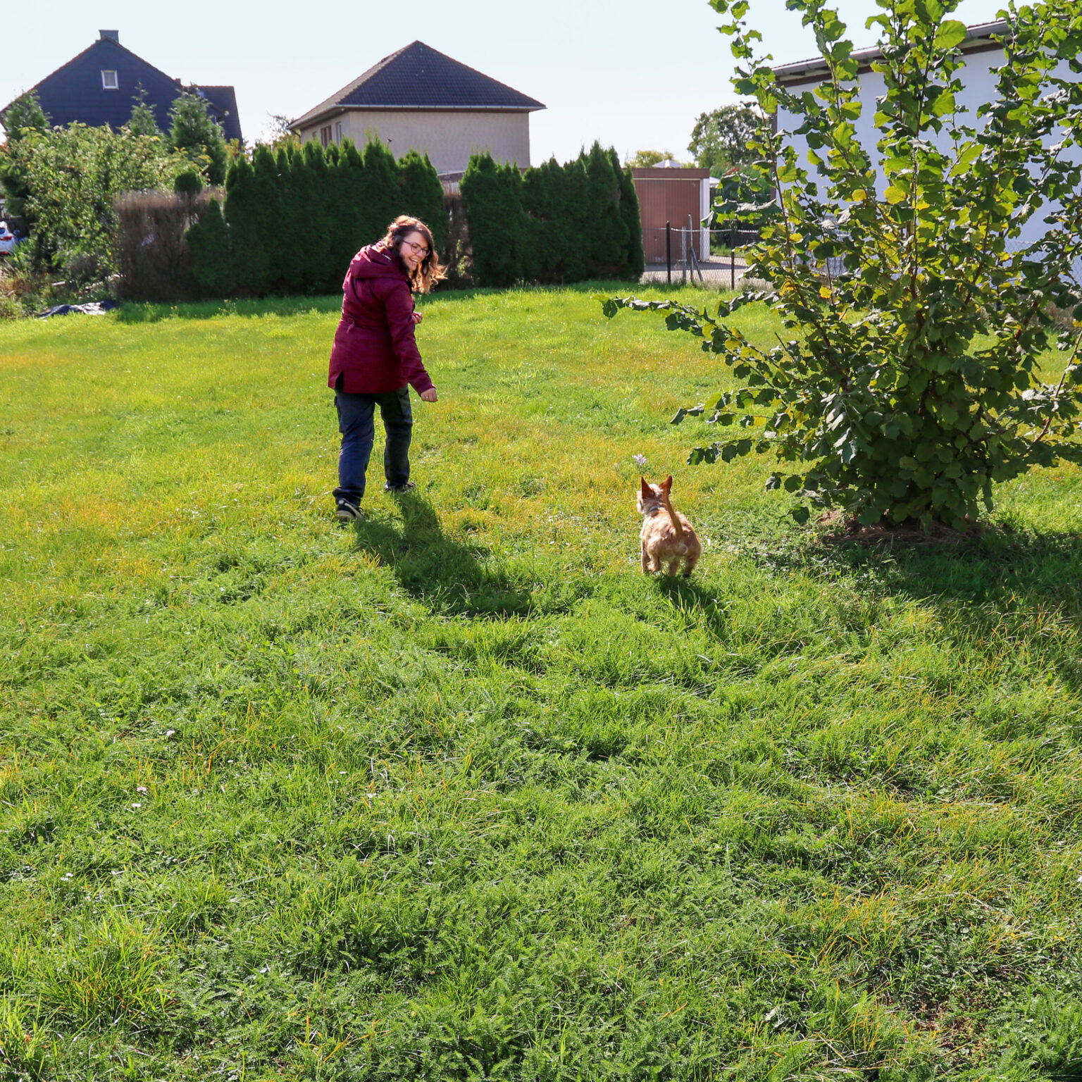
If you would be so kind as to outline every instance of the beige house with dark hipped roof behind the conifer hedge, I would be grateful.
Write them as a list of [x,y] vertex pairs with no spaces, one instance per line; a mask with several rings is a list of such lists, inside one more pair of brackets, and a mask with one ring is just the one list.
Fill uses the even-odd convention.
[[[324,146],[369,136],[395,157],[427,154],[436,172],[461,175],[470,156],[530,163],[530,114],[544,106],[517,90],[437,52],[423,41],[384,56],[290,126],[302,142]],[[450,179],[450,177],[448,177]]]

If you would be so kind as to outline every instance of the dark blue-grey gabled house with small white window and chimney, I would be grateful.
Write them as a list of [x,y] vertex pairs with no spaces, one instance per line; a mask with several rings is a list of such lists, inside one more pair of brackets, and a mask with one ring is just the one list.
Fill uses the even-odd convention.
[[[159,71],[126,49],[117,30],[100,30],[98,35],[89,49],[31,88],[50,123],[120,128],[131,119],[132,107],[142,100],[154,110],[158,127],[168,129],[169,110],[185,89],[181,80]],[[206,98],[208,111],[222,126],[227,140],[241,138],[233,87],[187,89]]]

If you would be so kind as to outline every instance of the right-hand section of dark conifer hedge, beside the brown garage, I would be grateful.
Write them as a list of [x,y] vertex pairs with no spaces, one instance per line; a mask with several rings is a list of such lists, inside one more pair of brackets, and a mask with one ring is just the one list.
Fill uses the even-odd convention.
[[479,286],[643,273],[638,199],[615,150],[595,143],[573,161],[525,173],[475,155],[461,189]]

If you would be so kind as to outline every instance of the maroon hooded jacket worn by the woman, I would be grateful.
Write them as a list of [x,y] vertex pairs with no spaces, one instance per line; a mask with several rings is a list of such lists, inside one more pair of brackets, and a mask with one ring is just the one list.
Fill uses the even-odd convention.
[[413,294],[397,252],[369,245],[353,258],[334,332],[328,386],[349,394],[400,391],[420,394],[432,386],[413,338]]

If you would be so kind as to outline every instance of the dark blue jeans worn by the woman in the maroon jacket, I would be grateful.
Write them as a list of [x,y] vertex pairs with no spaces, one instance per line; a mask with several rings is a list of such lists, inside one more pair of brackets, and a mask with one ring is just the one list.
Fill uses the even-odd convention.
[[383,450],[383,475],[388,485],[405,485],[409,480],[409,441],[413,430],[413,414],[409,405],[409,387],[386,391],[379,395],[351,395],[334,392],[334,408],[342,433],[339,453],[339,487],[334,499],[360,503],[365,494],[365,473],[375,439],[373,414],[380,407],[380,417],[387,435]]

